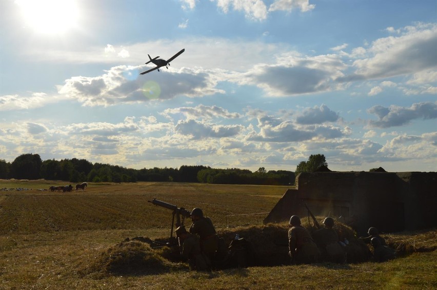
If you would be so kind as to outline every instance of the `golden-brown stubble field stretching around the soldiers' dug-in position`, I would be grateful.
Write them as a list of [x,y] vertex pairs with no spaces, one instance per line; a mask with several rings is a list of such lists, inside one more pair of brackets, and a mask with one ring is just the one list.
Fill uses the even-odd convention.
[[[138,182],[89,183],[84,192],[38,190],[50,185],[68,183],[0,180],[0,188],[29,189],[0,192],[0,289],[437,287],[433,250],[384,264],[280,265],[206,273],[175,264],[161,274],[93,275],[84,269],[126,238],[169,236],[171,211],[148,200],[187,210],[202,208],[220,233],[261,226],[267,214],[234,215],[269,212],[288,187]],[[435,233],[412,235],[422,243],[433,237],[429,248],[434,249]],[[406,239],[403,235],[390,238]]]

